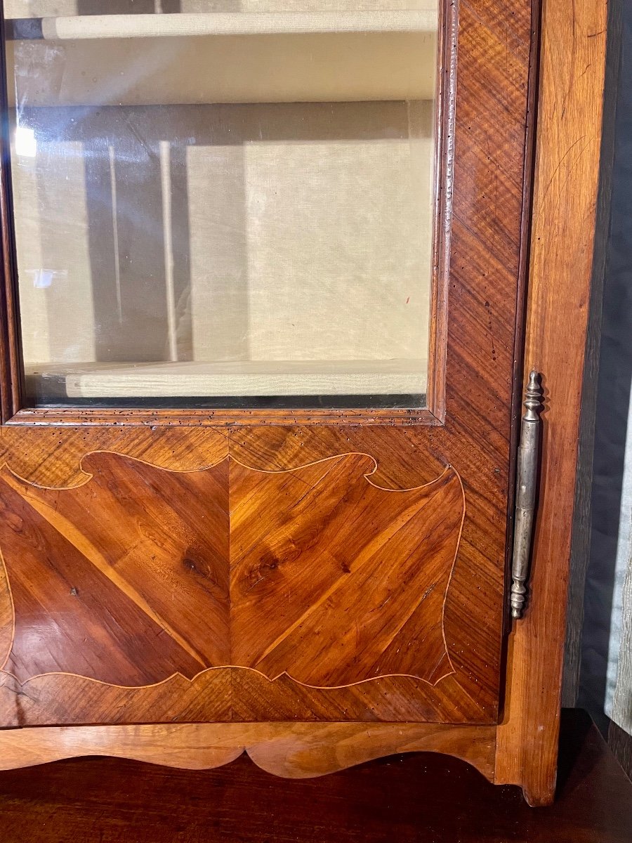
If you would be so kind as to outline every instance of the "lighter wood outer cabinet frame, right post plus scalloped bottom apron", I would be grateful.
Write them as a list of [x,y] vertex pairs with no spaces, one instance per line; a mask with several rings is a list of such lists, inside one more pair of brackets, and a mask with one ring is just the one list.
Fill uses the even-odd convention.
[[[544,448],[530,599],[523,619],[509,634],[501,724],[495,728],[398,723],[367,728],[352,723],[223,723],[5,730],[0,732],[3,766],[95,752],[213,766],[249,748],[265,769],[285,776],[312,776],[393,751],[431,749],[469,760],[490,781],[521,786],[531,804],[552,800],[607,12],[607,0],[544,0],[543,6],[524,368],[543,373]],[[3,197],[7,190],[5,183]],[[3,207],[6,245],[10,230],[6,200]],[[3,342],[10,339],[0,337]],[[206,730],[204,736],[200,729]]]

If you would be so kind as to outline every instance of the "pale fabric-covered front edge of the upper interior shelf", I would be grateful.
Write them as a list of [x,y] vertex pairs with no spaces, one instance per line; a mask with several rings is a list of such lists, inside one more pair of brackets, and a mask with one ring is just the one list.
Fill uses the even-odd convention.
[[200,35],[290,35],[331,32],[436,32],[437,12],[212,12],[98,14],[13,20],[13,39],[93,40]]

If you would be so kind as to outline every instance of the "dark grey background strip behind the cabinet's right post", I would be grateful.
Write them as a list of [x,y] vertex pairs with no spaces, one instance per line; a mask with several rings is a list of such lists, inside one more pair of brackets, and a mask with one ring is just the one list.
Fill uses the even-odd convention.
[[[613,168],[609,185],[608,173],[605,174],[611,196],[609,219],[605,215],[603,220],[608,228],[603,298],[596,304],[597,309],[601,309],[601,319],[598,320],[600,325],[597,325],[600,340],[592,459],[592,513],[578,700],[604,729],[608,726],[605,711],[609,711],[614,679],[612,654],[619,647],[620,589],[624,574],[622,553],[625,553],[624,545],[629,534],[626,519],[629,507],[632,507],[629,494],[624,492],[626,438],[632,438],[632,429],[628,430],[632,382],[632,3],[621,3],[619,14],[620,30],[611,38],[608,56],[611,71],[608,93],[615,106]],[[617,23],[613,22],[613,25]],[[613,93],[616,95],[613,96]],[[608,654],[611,660],[609,687]]]

